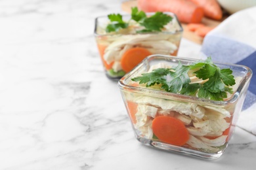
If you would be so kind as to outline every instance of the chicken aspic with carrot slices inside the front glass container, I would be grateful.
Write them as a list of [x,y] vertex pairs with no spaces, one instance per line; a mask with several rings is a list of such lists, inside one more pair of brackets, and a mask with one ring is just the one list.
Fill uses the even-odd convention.
[[[159,63],[150,67],[148,73],[158,68],[171,69],[169,65]],[[188,72],[188,76],[190,83],[207,82],[197,78],[194,72]],[[238,88],[241,79],[234,77],[236,83],[232,91]],[[130,85],[146,88],[145,84],[134,81]],[[147,88],[161,90],[160,84]],[[231,95],[227,93],[226,99]],[[129,92],[125,92],[125,99],[135,131],[146,139],[209,153],[223,150],[228,142],[234,105],[205,105]]]

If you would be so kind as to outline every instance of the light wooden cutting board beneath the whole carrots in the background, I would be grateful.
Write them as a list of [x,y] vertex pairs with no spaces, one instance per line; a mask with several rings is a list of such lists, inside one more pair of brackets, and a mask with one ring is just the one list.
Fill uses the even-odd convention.
[[[137,7],[137,1],[135,1],[135,0],[125,1],[121,5],[121,9],[125,12],[128,12],[128,13],[131,12],[131,7]],[[226,17],[224,17],[224,18],[226,18]],[[209,18],[203,18],[202,23],[209,26],[209,27],[215,27],[215,26],[219,25],[221,23],[221,21],[211,20]],[[181,25],[184,29],[184,32],[183,32],[183,37],[184,38],[186,38],[190,41],[196,42],[198,44],[202,44],[203,37],[200,37],[200,36],[196,35],[194,32],[189,31],[188,29],[186,29],[186,24],[181,23]]]

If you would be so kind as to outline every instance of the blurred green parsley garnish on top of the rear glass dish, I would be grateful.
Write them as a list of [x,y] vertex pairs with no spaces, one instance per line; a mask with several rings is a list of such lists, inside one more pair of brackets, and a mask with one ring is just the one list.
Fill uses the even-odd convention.
[[163,12],[156,12],[154,15],[147,17],[146,13],[142,10],[138,10],[137,7],[131,8],[131,20],[128,22],[123,21],[121,14],[109,14],[108,19],[110,24],[106,26],[106,32],[119,31],[129,26],[129,22],[134,20],[144,27],[144,29],[138,31],[139,33],[161,31],[164,25],[173,20],[173,17],[163,14]]

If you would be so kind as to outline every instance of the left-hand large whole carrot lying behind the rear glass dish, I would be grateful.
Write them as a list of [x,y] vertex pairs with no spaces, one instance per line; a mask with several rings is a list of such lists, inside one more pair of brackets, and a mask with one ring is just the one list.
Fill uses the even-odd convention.
[[173,12],[180,22],[200,23],[203,8],[187,0],[137,0],[138,7],[144,12]]

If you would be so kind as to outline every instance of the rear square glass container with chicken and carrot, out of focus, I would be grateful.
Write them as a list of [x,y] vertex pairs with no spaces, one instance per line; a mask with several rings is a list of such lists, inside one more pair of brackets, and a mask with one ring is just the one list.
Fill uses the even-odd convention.
[[[109,33],[106,32],[106,26],[110,23],[108,16],[96,18],[95,39],[108,78],[119,80],[152,54],[177,55],[183,29],[175,14],[164,13],[173,18],[171,22],[159,32],[146,33],[138,32],[144,27],[131,20],[129,14],[122,16],[125,22],[129,21],[129,27]],[[154,14],[146,13],[147,16]]]

